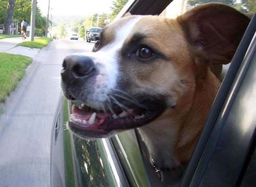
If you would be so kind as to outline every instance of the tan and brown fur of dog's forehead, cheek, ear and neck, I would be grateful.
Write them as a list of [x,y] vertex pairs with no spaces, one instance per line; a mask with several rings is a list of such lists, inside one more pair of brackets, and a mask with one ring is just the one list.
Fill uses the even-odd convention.
[[[133,17],[125,16],[111,24],[103,36],[112,40],[113,32]],[[161,94],[170,107],[138,128],[150,160],[154,159],[159,168],[178,170],[189,161],[221,84],[209,66],[230,62],[248,22],[246,16],[226,5],[206,4],[177,19],[145,16],[125,40],[121,53],[136,43],[137,35],[143,35],[140,43],[164,55],[148,63],[131,59],[119,62],[119,71],[129,80],[124,83],[128,94]],[[172,180],[180,176],[180,172],[177,176],[165,172],[163,182],[171,183],[170,174]]]

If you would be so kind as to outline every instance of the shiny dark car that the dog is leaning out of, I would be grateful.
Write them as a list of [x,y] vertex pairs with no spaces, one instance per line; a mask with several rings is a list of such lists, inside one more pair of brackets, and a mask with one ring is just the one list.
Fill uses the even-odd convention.
[[[130,0],[118,16],[126,12],[160,14],[171,1]],[[180,187],[256,186],[255,36],[254,16],[212,105]],[[65,130],[71,105],[60,98],[52,135],[52,187],[163,186],[145,159],[147,151],[136,129],[109,139],[80,139]]]

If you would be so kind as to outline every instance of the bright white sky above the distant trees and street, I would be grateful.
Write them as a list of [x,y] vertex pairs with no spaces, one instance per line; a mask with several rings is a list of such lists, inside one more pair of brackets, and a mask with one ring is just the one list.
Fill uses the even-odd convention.
[[[113,0],[50,0],[52,15],[89,16],[94,13],[110,13]],[[48,0],[37,0],[44,16],[47,15]],[[52,8],[52,9],[51,9]],[[51,13],[49,12],[49,15]]]

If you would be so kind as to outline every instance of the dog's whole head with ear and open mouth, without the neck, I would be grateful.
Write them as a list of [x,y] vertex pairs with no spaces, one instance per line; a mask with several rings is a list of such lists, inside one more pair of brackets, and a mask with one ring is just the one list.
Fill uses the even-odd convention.
[[103,29],[93,52],[66,57],[64,95],[78,100],[69,128],[106,137],[191,108],[207,66],[229,63],[249,19],[226,5],[198,6],[177,19],[125,16]]

